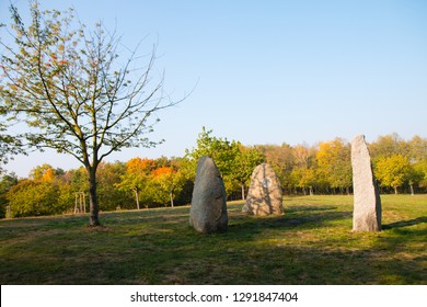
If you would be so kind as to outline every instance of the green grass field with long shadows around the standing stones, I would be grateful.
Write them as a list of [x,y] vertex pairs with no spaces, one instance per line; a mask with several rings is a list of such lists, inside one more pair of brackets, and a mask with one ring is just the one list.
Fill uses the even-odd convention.
[[1,284],[427,284],[427,195],[382,195],[381,232],[353,232],[353,196],[285,197],[280,217],[229,204],[227,232],[189,207],[0,221]]

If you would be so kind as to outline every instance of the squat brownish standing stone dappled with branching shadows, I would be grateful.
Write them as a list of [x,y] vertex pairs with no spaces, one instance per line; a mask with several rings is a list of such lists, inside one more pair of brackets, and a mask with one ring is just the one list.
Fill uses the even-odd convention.
[[262,163],[253,171],[246,203],[242,212],[253,215],[280,215],[284,213],[280,181],[269,164]]

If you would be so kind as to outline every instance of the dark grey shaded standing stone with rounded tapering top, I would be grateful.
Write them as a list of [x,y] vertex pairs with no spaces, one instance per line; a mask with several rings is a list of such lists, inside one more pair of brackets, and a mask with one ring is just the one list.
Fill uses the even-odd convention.
[[210,157],[201,157],[197,163],[189,225],[201,234],[222,231],[228,226],[226,189]]

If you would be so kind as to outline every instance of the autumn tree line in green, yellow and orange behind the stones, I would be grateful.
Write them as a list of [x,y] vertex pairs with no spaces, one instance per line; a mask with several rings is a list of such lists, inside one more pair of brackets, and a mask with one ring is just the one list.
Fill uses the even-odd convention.
[[[427,139],[380,136],[369,144],[381,193],[427,192]],[[200,157],[211,156],[224,181],[229,200],[245,198],[253,169],[267,162],[276,170],[284,192],[293,194],[350,194],[350,145],[342,138],[316,145],[243,146],[216,137],[203,128],[197,145],[184,157],[134,158],[102,162],[97,191],[101,211],[139,209],[189,204]],[[72,213],[76,194],[88,193],[83,167],[72,170],[43,164],[26,179],[13,173],[0,181],[0,216],[10,207],[12,217]]]

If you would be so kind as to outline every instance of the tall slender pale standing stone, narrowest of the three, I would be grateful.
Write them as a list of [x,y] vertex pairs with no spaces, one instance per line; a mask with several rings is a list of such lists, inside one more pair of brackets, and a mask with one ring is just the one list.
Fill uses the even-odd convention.
[[372,172],[371,158],[365,136],[351,141],[351,167],[354,189],[353,230],[381,230],[381,198]]

